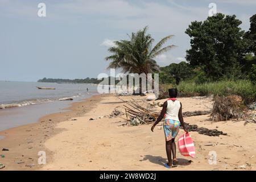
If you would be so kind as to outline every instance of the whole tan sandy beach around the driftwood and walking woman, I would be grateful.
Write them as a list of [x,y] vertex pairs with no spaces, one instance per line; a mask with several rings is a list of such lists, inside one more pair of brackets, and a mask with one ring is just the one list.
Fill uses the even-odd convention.
[[[121,96],[123,100],[144,100],[145,96]],[[179,98],[183,112],[210,110],[210,97]],[[164,100],[162,100],[164,101]],[[150,102],[150,101],[148,101]],[[151,101],[152,102],[152,101]],[[69,107],[69,111],[47,115],[38,123],[2,131],[1,170],[255,170],[256,125],[245,121],[212,122],[209,114],[185,117],[184,121],[228,135],[209,137],[191,131],[196,148],[194,159],[180,155],[179,165],[164,168],[167,162],[162,122],[126,126],[125,119],[104,117],[124,103],[113,94],[93,96]],[[156,106],[160,111],[162,107]],[[102,118],[98,118],[102,117]],[[90,120],[90,118],[97,118]],[[184,133],[180,130],[177,137]],[[38,164],[38,152],[46,151],[46,165]],[[209,164],[209,152],[217,164]],[[192,162],[189,162],[192,160]]]

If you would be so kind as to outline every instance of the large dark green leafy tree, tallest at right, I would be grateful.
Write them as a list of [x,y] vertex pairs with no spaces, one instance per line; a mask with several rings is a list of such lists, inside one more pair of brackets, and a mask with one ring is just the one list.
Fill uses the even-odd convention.
[[192,22],[185,31],[191,37],[187,61],[203,68],[208,78],[240,76],[240,60],[245,52],[241,23],[236,15],[221,13],[204,22]]

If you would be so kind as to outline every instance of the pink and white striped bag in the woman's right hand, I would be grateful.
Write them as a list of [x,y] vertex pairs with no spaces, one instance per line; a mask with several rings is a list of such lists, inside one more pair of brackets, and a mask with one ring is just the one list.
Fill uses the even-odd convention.
[[195,158],[196,151],[193,140],[188,133],[181,135],[178,139],[178,147],[180,154],[183,156],[191,156]]

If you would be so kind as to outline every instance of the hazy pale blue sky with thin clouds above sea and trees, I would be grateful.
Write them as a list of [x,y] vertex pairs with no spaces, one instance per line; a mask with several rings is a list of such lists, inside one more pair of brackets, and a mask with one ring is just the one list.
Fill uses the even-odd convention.
[[[38,4],[46,4],[46,17]],[[158,64],[184,60],[193,20],[208,16],[209,3],[217,12],[236,14],[248,30],[256,1],[146,1],[146,0],[0,0],[0,80],[37,81],[39,78],[97,77],[106,70],[113,40],[148,26],[157,42],[175,35],[177,48],[156,57]]]

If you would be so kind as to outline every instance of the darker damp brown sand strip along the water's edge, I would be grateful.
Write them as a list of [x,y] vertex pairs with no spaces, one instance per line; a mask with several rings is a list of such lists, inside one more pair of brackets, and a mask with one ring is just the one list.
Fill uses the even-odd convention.
[[[38,152],[46,151],[47,161],[51,161],[53,153],[44,146],[44,142],[62,131],[56,129],[57,123],[73,117],[81,117],[103,97],[106,97],[106,94],[93,95],[82,101],[73,102],[58,113],[44,115],[35,123],[0,131],[0,135],[3,136],[0,139],[0,155],[5,155],[5,158],[0,158],[0,163],[6,166],[1,170],[37,170],[42,168],[38,164]],[[2,148],[7,148],[9,151],[2,151]]]

